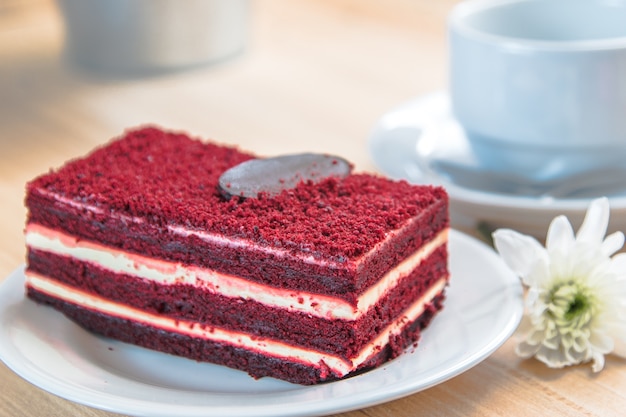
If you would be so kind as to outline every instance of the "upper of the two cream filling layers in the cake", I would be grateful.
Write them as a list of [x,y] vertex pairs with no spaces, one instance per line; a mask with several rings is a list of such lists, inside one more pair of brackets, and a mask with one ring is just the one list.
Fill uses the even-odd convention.
[[114,273],[153,281],[162,285],[188,284],[226,297],[252,300],[272,308],[301,312],[327,319],[357,320],[390,289],[448,241],[443,230],[382,279],[361,294],[355,305],[340,298],[270,287],[206,268],[157,260],[106,247],[31,223],[26,227],[26,244],[56,255],[97,265]]

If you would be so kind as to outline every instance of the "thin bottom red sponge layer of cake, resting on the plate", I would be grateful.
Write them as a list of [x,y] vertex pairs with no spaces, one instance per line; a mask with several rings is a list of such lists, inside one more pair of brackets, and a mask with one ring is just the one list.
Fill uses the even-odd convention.
[[[76,307],[37,291],[31,290],[29,296],[39,303],[50,305],[63,312],[87,330],[160,352],[239,369],[255,378],[269,376],[302,385],[337,379],[325,368],[311,368],[298,362],[268,358],[229,345],[167,333],[161,329]],[[407,325],[400,335],[351,375],[380,366],[400,355],[407,346],[419,340],[421,330],[428,326],[435,313],[441,308],[441,298],[433,300],[419,319]]]

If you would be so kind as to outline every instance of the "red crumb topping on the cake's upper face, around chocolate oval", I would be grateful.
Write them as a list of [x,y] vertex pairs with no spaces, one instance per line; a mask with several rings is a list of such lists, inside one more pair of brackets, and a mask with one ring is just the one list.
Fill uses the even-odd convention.
[[336,260],[369,251],[425,207],[447,200],[441,187],[363,173],[303,181],[274,196],[224,198],[219,177],[253,158],[234,146],[143,127],[28,187],[106,213],[147,217],[164,226],[250,239],[312,256],[330,254]]

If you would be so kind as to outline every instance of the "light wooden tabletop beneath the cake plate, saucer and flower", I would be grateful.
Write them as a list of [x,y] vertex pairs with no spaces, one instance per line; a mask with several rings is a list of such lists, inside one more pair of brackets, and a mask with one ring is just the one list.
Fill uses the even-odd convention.
[[[398,104],[446,88],[456,0],[253,0],[250,41],[228,62],[143,79],[69,68],[51,0],[0,2],[0,280],[24,262],[24,184],[125,128],[157,123],[259,154],[320,151],[375,170],[367,138]],[[0,343],[3,343],[0,340]],[[343,416],[617,416],[626,361],[551,370],[512,340],[428,390]],[[111,416],[0,365],[1,416]]]

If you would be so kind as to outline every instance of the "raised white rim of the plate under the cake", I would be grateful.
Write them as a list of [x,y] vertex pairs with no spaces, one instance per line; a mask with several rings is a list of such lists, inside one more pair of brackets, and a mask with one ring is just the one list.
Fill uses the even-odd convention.
[[[451,232],[450,242],[453,245],[459,246],[459,251],[463,247],[467,248],[468,246],[471,246],[472,248],[479,250],[482,256],[487,257],[486,261],[488,262],[486,263],[488,265],[492,265],[493,262],[497,262],[501,265],[500,272],[507,271],[507,268],[504,266],[501,259],[498,257],[495,251],[493,251],[493,249],[489,247],[487,244],[485,244],[482,241],[479,241],[478,239],[472,236],[469,236],[460,231],[457,231],[455,229],[451,229],[450,232]],[[450,256],[460,257],[462,255],[460,254],[454,255],[454,253],[452,252]],[[3,316],[6,313],[6,310],[8,307],[15,305],[16,303],[31,302],[30,300],[27,300],[24,296],[22,281],[18,283],[18,284],[21,284],[19,285],[19,288],[10,287],[10,285],[13,285],[13,286],[16,285],[15,281],[19,281],[20,279],[23,280],[23,270],[24,270],[24,265],[20,266],[19,268],[14,270],[8,277],[5,277],[4,280],[0,281],[0,301],[6,301],[6,300],[9,301],[9,302],[0,303],[0,318],[1,319],[4,319]],[[21,274],[21,277],[20,277],[20,274]],[[65,398],[67,400],[70,400],[79,404],[83,404],[89,407],[102,409],[102,410],[106,410],[110,412],[117,412],[117,413],[121,412],[121,413],[128,413],[131,415],[137,415],[137,416],[143,415],[143,416],[155,416],[155,417],[166,416],[166,415],[171,414],[174,411],[178,415],[186,415],[186,416],[222,415],[225,412],[227,412],[229,415],[232,415],[232,416],[249,416],[249,415],[318,416],[318,415],[325,415],[329,413],[347,412],[347,411],[351,411],[355,409],[371,407],[377,404],[393,401],[393,400],[426,390],[435,385],[441,384],[455,376],[460,375],[461,373],[466,372],[472,367],[476,366],[477,364],[485,360],[487,357],[489,357],[500,346],[502,346],[502,344],[504,344],[509,339],[509,337],[515,332],[523,314],[523,302],[522,302],[523,295],[522,295],[521,282],[512,272],[507,273],[505,275],[506,276],[503,276],[501,278],[501,283],[507,283],[505,287],[506,287],[507,292],[509,293],[508,295],[515,297],[515,298],[519,298],[519,303],[511,303],[512,306],[510,306],[511,308],[509,312],[510,316],[508,317],[508,320],[503,322],[502,328],[499,330],[499,332],[497,332],[496,337],[484,343],[480,347],[474,347],[474,351],[471,352],[471,354],[466,355],[464,357],[463,362],[457,364],[457,366],[453,368],[452,372],[450,372],[450,368],[441,370],[437,374],[431,375],[429,378],[427,378],[428,382],[426,384],[421,383],[419,379],[415,379],[415,378],[393,381],[393,383],[388,385],[386,389],[372,390],[371,388],[369,388],[365,391],[354,393],[352,395],[352,401],[347,401],[346,398],[343,398],[343,399],[340,398],[339,400],[335,399],[335,401],[333,401],[333,398],[330,398],[330,399],[322,398],[322,399],[317,399],[317,400],[311,400],[308,403],[300,403],[299,405],[301,405],[301,407],[299,407],[300,408],[299,410],[294,410],[294,409],[285,410],[285,408],[287,407],[285,407],[284,404],[282,403],[265,404],[262,406],[259,406],[259,404],[256,404],[256,405],[248,404],[245,406],[241,406],[240,404],[235,404],[233,407],[229,407],[228,409],[224,409],[223,407],[217,408],[210,404],[184,405],[184,406],[181,406],[179,404],[179,405],[173,405],[172,407],[167,407],[167,406],[164,407],[163,406],[164,404],[162,402],[155,403],[155,402],[148,402],[142,399],[132,399],[132,398],[128,399],[125,397],[120,397],[118,395],[107,394],[102,391],[94,390],[92,388],[83,387],[83,390],[84,390],[83,392],[74,392],[74,393],[66,392],[63,389],[59,389],[58,378],[55,379],[54,376],[46,374],[45,372],[42,372],[42,369],[38,368],[36,364],[31,362],[30,364],[25,365],[24,363],[19,363],[19,361],[16,362],[17,358],[10,357],[10,354],[7,353],[8,352],[7,347],[5,346],[5,342],[6,344],[9,344],[8,340],[5,340],[5,342],[0,343],[0,360],[2,360],[5,363],[5,365],[9,367],[18,376],[27,380],[31,384],[39,387],[40,389],[43,389],[53,395],[56,395],[61,398]],[[454,280],[454,276],[451,279]],[[21,295],[18,294],[18,291],[20,289],[21,289]],[[449,288],[448,291],[451,291],[451,289]],[[35,306],[36,304],[33,303],[33,307]],[[61,313],[58,313],[56,311],[55,313],[59,314],[59,318],[61,318],[62,320],[67,320],[68,323],[71,323],[73,325],[73,322],[63,317]],[[435,326],[436,324],[437,322],[435,320],[431,324],[431,326]],[[0,332],[2,331],[3,330],[0,329]],[[427,334],[428,334],[427,332],[428,332],[428,329],[425,330],[424,337],[427,337]],[[97,337],[97,336],[94,335],[93,337]],[[7,339],[7,338],[3,337],[1,339]],[[7,355],[9,357],[7,357]],[[401,358],[402,357],[397,358],[396,360],[401,359]],[[30,360],[31,358],[23,357],[23,359]],[[363,375],[368,375],[371,373],[375,373],[377,371],[382,372],[384,371],[384,368],[386,365],[387,364],[383,365],[380,368],[372,370],[368,373],[365,373]],[[342,383],[346,383],[346,381],[351,381],[351,380],[354,381],[355,378],[358,378],[358,377],[359,376],[355,376],[347,380],[330,382],[330,383],[323,384],[323,385],[332,387],[333,384],[342,384]],[[64,382],[65,384],[67,384],[66,381],[61,381],[61,382]],[[309,387],[301,386],[302,388],[298,389],[298,392],[300,390],[312,390],[313,391],[319,386],[320,385],[313,385]],[[83,395],[85,393],[88,393],[87,398],[85,398],[85,396]],[[219,394],[219,395],[222,395],[222,394]],[[263,395],[267,396],[271,394],[268,394],[266,392],[266,393],[263,393]],[[289,396],[289,392],[287,395]],[[114,401],[114,404],[112,404],[111,403],[112,399],[117,400],[117,403],[115,403]],[[151,406],[152,410],[147,410],[146,406]],[[158,408],[158,410],[156,408]],[[282,414],[287,411],[288,411],[288,414]]]

